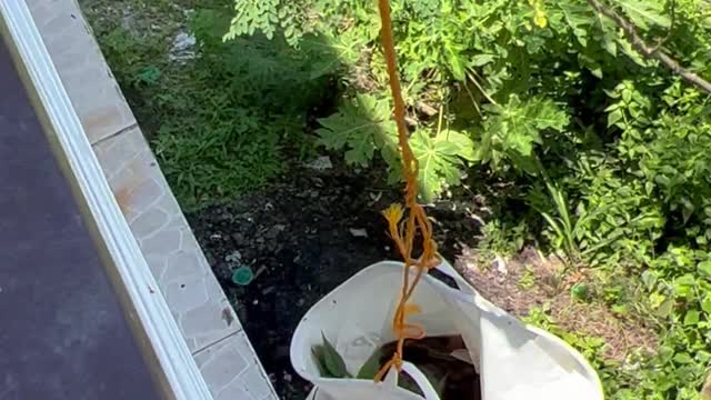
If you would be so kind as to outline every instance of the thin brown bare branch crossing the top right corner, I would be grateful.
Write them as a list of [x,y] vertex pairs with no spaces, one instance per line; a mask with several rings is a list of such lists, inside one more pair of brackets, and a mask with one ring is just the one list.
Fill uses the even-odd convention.
[[693,83],[699,89],[705,90],[707,92],[711,93],[711,82],[683,68],[679,62],[677,62],[677,60],[669,57],[658,47],[648,44],[644,39],[642,39],[642,37],[637,32],[637,28],[630,21],[624,19],[624,17],[602,4],[599,0],[588,0],[588,3],[595,11],[611,19],[618,27],[620,27],[620,29],[622,29],[622,31],[624,32],[627,39],[630,41],[630,43],[632,43],[632,47],[640,54],[655,59],[657,61],[664,64],[664,67],[672,70],[672,72],[685,79],[688,82]]

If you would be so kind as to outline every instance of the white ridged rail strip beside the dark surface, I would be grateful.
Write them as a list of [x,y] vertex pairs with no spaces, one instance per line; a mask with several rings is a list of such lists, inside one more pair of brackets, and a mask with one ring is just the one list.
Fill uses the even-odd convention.
[[79,121],[24,0],[0,0],[0,16],[46,108],[174,398],[212,400]]

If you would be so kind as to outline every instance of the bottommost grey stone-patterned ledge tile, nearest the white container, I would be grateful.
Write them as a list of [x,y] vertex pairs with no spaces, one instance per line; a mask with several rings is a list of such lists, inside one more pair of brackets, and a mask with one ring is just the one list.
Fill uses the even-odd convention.
[[196,361],[216,400],[277,399],[244,332],[197,353]]

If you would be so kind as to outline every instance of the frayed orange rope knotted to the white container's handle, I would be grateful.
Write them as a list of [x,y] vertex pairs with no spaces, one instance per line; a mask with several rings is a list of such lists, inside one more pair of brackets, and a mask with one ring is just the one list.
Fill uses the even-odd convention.
[[[404,273],[402,279],[402,291],[400,302],[392,319],[392,330],[398,338],[398,346],[392,359],[388,361],[375,374],[374,380],[380,381],[388,373],[391,367],[398,371],[402,368],[402,349],[407,339],[422,339],[424,329],[414,323],[408,323],[408,314],[415,313],[419,308],[408,303],[414,288],[422,278],[422,274],[430,268],[439,264],[437,256],[437,243],[432,240],[432,224],[424,213],[424,209],[417,201],[418,197],[418,160],[412,153],[408,143],[408,127],[404,122],[404,101],[398,78],[398,61],[395,58],[394,40],[392,38],[392,21],[390,18],[390,4],[388,0],[379,0],[380,19],[382,21],[381,40],[388,66],[390,78],[390,90],[395,104],[394,118],[398,127],[398,141],[402,152],[403,174],[405,180],[404,204],[409,211],[405,221],[401,222],[403,210],[400,204],[392,204],[382,213],[388,220],[388,228],[392,240],[395,242],[398,251],[404,260]],[[422,236],[422,254],[414,259],[412,256],[417,231]],[[410,281],[410,271],[417,270],[414,279]]]

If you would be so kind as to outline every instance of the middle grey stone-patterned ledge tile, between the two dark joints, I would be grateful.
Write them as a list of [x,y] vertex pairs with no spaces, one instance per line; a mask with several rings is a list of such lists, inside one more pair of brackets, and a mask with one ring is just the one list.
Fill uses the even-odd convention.
[[240,331],[141,131],[108,138],[94,151],[190,350]]

